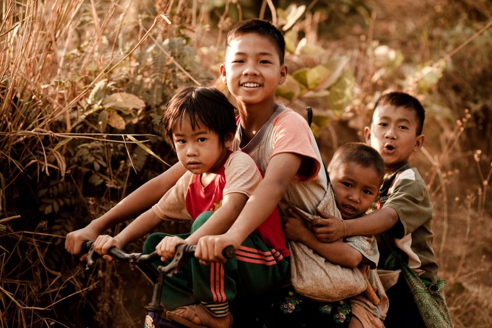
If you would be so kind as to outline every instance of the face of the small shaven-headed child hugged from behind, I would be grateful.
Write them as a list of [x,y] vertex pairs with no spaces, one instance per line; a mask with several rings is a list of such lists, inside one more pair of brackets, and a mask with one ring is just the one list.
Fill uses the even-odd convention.
[[343,163],[329,173],[343,219],[363,215],[379,196],[381,176],[373,167]]

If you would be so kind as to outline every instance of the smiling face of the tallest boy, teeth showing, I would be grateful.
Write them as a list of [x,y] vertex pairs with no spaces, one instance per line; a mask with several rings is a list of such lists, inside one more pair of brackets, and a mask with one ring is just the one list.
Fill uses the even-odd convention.
[[239,106],[273,106],[275,90],[285,82],[287,66],[280,64],[277,48],[269,38],[247,33],[230,41],[220,75]]

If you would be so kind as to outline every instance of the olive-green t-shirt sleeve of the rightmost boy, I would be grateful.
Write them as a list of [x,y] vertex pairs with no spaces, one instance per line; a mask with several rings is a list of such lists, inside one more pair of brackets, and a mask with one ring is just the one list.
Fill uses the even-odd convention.
[[400,221],[391,229],[395,238],[411,234],[432,217],[432,205],[425,184],[412,179],[401,179],[383,205],[398,213]]

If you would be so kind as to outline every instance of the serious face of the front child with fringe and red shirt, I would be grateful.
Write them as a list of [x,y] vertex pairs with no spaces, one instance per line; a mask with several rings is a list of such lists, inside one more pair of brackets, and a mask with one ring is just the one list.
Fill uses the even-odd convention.
[[217,133],[210,131],[202,121],[197,121],[193,130],[186,118],[173,130],[173,143],[180,163],[197,175],[215,173],[231,144],[230,139],[223,145]]

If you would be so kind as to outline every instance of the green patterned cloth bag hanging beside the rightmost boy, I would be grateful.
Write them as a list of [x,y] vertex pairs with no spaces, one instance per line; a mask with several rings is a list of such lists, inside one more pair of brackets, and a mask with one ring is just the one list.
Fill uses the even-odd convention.
[[415,298],[415,303],[417,303],[417,308],[426,327],[452,328],[453,322],[444,298],[446,280],[437,279],[437,284],[426,284],[401,258],[399,262],[406,283],[413,294],[413,298]]

